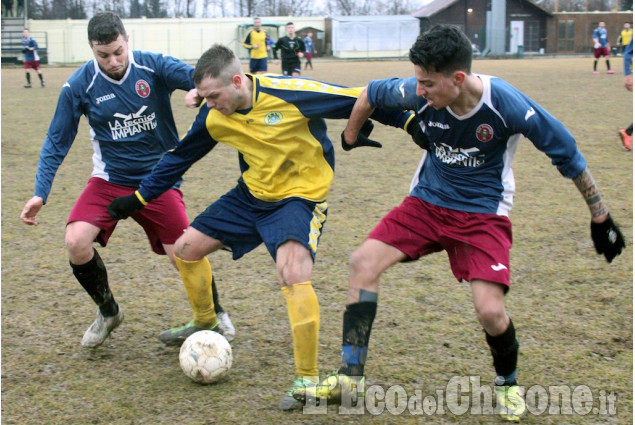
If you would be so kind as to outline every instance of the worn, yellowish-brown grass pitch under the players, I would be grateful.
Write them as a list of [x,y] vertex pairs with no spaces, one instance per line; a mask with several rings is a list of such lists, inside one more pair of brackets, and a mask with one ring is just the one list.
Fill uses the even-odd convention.
[[[412,74],[406,61],[314,62],[315,71],[305,76],[347,85]],[[592,75],[591,65],[591,58],[474,64],[475,72],[503,77],[524,90],[572,131],[627,241],[613,264],[596,255],[589,213],[573,183],[528,140],[521,144],[514,164],[507,296],[521,344],[520,383],[546,391],[588,388],[594,409],[616,397],[614,414],[577,410],[562,415],[547,409],[527,416],[523,422],[528,424],[632,423],[633,159],[617,131],[632,120],[633,98],[621,72]],[[613,67],[621,69],[621,60],[614,59]],[[2,69],[3,424],[499,423],[492,415],[448,408],[423,417],[409,409],[399,414],[396,408],[371,408],[363,416],[343,414],[335,406],[327,414],[278,411],[292,380],[293,354],[284,298],[263,247],[237,262],[222,252],[210,256],[222,304],[237,329],[234,366],[219,384],[191,382],[179,368],[178,348],[157,339],[163,329],[190,318],[182,283],[129,220],[100,249],[126,319],[102,347],[83,349],[80,340],[96,309],[68,266],[64,226],[92,169],[85,119],[39,214],[40,225],[27,227],[19,220],[32,196],[38,153],[59,90],[73,71],[44,68],[47,87],[26,90],[23,70]],[[195,112],[182,106],[182,92],[173,103],[183,132]],[[329,122],[337,167],[313,275],[321,304],[322,373],[340,361],[348,256],[407,195],[421,155],[404,132],[381,125],[373,135],[383,149],[343,152],[344,124]],[[219,146],[188,172],[183,191],[190,218],[234,186],[236,159],[234,151]],[[408,397],[419,391],[439,401],[455,376],[492,383],[491,358],[468,285],[456,282],[445,254],[390,269],[382,279],[375,323],[369,385],[402,388]],[[393,390],[389,393],[396,394]],[[549,407],[557,410],[554,401],[548,399]]]

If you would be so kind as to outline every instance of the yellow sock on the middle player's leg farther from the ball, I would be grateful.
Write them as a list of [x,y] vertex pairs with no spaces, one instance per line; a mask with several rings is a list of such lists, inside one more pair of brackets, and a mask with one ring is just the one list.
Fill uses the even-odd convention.
[[320,333],[320,306],[311,282],[283,286],[293,335],[293,357],[297,377],[317,382],[317,348]]

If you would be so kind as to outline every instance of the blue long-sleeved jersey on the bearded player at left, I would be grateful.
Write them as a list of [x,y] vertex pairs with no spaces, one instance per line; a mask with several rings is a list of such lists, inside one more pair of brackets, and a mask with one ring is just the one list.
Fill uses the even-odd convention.
[[194,68],[156,53],[129,51],[128,59],[128,70],[119,81],[92,60],[64,83],[35,178],[35,195],[44,202],[82,115],[90,126],[92,175],[114,184],[137,187],[178,144],[170,95],[176,89],[194,88]]

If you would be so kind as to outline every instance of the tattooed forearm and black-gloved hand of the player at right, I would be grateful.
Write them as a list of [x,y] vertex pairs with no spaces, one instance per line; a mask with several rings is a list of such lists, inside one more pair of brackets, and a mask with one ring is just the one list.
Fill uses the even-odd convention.
[[604,254],[606,261],[610,263],[626,246],[624,236],[604,205],[589,169],[585,168],[573,182],[591,211],[591,239],[595,250],[598,254]]

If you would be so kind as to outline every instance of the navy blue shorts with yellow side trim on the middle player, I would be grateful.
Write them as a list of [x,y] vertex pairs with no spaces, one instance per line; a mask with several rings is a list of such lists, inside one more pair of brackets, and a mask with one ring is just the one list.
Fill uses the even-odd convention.
[[275,261],[278,247],[288,240],[304,245],[315,260],[327,208],[326,202],[302,198],[261,201],[239,184],[207,207],[190,226],[218,239],[232,251],[234,260],[264,242]]

